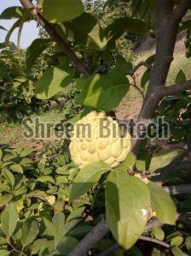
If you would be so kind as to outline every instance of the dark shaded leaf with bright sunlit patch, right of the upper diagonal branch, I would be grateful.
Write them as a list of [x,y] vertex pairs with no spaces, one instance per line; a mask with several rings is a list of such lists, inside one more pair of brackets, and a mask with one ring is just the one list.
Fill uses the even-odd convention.
[[100,23],[93,15],[83,13],[78,18],[64,24],[67,34],[74,42],[81,43],[88,49],[103,51],[107,40]]

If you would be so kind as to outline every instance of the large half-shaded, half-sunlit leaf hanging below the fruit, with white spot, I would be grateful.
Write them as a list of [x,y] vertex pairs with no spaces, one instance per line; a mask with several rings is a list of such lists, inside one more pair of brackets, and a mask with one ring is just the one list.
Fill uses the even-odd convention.
[[125,249],[132,247],[148,222],[150,195],[147,185],[124,170],[107,177],[106,215],[109,229]]

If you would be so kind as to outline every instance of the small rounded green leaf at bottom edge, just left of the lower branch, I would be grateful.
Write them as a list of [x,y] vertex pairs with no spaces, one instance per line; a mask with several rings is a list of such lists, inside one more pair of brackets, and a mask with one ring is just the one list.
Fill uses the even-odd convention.
[[65,236],[59,241],[57,250],[61,255],[68,255],[72,249],[78,245],[78,240],[69,236]]

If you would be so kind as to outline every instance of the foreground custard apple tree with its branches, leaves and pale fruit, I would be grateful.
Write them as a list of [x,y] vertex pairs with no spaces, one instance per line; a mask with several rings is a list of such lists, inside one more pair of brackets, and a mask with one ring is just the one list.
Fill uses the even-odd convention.
[[[37,3],[20,0],[21,7],[6,9],[0,16],[2,19],[17,19],[6,40],[16,27],[21,33],[26,21],[35,20],[43,27],[49,39],[37,39],[28,47],[28,70],[49,45],[54,46],[53,55],[61,58],[38,80],[36,97],[49,99],[72,84],[79,91],[78,104],[84,108],[72,120],[74,130],[79,124],[90,124],[92,128],[91,138],[71,138],[72,168],[78,172],[72,180],[66,206],[71,209],[83,201],[84,194],[96,191],[89,208],[80,212],[81,217],[91,223],[91,229],[76,240],[75,232],[69,235],[64,229],[60,232],[59,224],[53,229],[53,224],[47,221],[47,239],[49,241],[50,236],[54,236],[55,254],[66,249],[64,255],[71,256],[87,253],[108,255],[113,252],[114,255],[143,255],[140,250],[142,241],[156,244],[152,247],[153,252],[149,251],[150,255],[184,255],[183,252],[190,252],[190,230],[186,227],[190,222],[189,207],[182,206],[182,193],[191,193],[190,176],[187,181],[182,178],[181,185],[177,186],[178,174],[173,176],[171,173],[174,170],[178,173],[177,165],[182,168],[183,160],[188,160],[191,80],[186,80],[183,71],[179,71],[175,83],[169,85],[167,75],[177,33],[182,30],[187,32],[186,47],[187,51],[190,50],[188,12],[191,3],[190,0],[126,2],[130,3],[129,16],[119,17],[107,27],[101,26],[96,15],[84,10],[81,0],[38,0]],[[106,1],[104,9],[114,9],[116,4],[118,1]],[[125,60],[116,50],[116,42],[127,32],[152,35],[156,39],[153,57],[136,65]],[[140,86],[137,86],[135,74],[142,66],[145,73]],[[170,123],[171,138],[167,145],[160,146],[158,141],[150,145],[148,140],[140,138],[130,140],[129,132],[124,137],[101,138],[101,120],[108,123],[110,130],[113,130],[113,123],[120,130],[119,122],[111,114],[128,94],[130,86],[136,87],[143,98],[137,122],[148,123],[157,116],[165,116]],[[177,120],[182,126],[177,127]],[[57,170],[63,171],[67,170]],[[45,179],[51,183],[51,177],[46,176]],[[94,218],[88,212],[100,192],[105,194],[104,211],[98,212]],[[2,223],[11,218],[10,207],[3,211]],[[55,223],[59,220],[56,218]],[[66,230],[68,225],[75,226],[71,220],[72,217],[68,223],[64,221]],[[13,235],[14,223],[15,219],[12,219],[12,226],[2,225],[7,238]],[[36,224],[33,224],[33,232],[34,229]],[[182,232],[182,229],[186,231]],[[104,239],[106,235],[110,238],[108,244]],[[101,240],[104,241],[102,247]],[[27,237],[22,239],[22,243],[27,243]],[[59,251],[61,246],[64,249]]]

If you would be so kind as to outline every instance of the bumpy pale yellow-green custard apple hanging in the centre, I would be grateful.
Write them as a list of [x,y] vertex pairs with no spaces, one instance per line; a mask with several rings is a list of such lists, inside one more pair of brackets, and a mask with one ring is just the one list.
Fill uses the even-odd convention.
[[[80,125],[84,125],[84,131]],[[101,135],[101,125],[107,125],[109,134],[106,138],[103,132]],[[87,131],[88,127],[90,133]],[[130,134],[126,132],[125,136],[121,137],[119,123],[104,111],[91,111],[76,122],[73,132],[69,149],[72,161],[79,169],[96,161],[103,161],[114,168],[123,162],[130,152]]]

